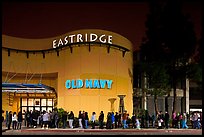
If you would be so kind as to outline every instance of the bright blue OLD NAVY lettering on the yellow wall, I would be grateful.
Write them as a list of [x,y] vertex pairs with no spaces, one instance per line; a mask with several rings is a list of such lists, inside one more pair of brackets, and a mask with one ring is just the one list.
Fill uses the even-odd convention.
[[112,87],[112,80],[104,80],[104,79],[77,79],[77,80],[67,80],[65,82],[65,87],[67,89],[80,89],[80,88],[87,88],[87,89],[111,89]]

